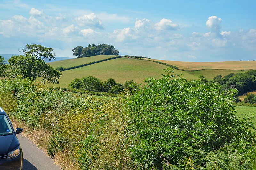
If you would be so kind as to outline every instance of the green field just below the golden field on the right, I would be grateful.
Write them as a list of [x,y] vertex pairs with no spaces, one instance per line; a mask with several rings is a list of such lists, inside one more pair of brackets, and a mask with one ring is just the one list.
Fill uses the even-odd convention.
[[203,75],[207,80],[213,80],[215,76],[218,74],[221,74],[222,77],[230,74],[230,73],[243,73],[247,72],[249,70],[224,70],[224,69],[205,69],[205,70],[199,70],[199,71],[191,71],[190,74],[199,77],[200,75]]

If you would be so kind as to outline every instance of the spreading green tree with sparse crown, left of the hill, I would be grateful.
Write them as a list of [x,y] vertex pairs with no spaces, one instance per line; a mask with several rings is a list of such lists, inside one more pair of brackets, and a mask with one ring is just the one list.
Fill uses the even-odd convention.
[[25,56],[12,56],[8,62],[11,67],[9,77],[16,77],[21,75],[22,78],[31,78],[35,80],[36,77],[42,77],[43,83],[59,84],[58,79],[61,73],[55,70],[50,65],[45,63],[45,59],[55,59],[55,54],[52,53],[52,48],[47,48],[37,44],[27,44],[22,48]]

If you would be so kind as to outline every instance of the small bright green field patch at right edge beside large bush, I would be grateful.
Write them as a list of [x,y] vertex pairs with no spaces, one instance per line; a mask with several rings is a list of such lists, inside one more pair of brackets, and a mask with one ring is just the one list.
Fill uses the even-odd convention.
[[236,114],[239,117],[247,117],[252,116],[252,122],[254,126],[256,127],[256,107],[251,106],[236,106]]

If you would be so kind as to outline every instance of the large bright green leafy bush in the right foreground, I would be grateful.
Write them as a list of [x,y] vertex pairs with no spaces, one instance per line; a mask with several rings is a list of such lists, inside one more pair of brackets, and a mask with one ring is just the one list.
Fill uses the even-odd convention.
[[161,169],[164,157],[170,166],[195,169],[205,166],[206,153],[225,145],[255,146],[251,123],[233,113],[235,90],[220,92],[217,85],[173,79],[173,71],[166,71],[159,80],[146,79],[128,100],[126,129],[135,164]]

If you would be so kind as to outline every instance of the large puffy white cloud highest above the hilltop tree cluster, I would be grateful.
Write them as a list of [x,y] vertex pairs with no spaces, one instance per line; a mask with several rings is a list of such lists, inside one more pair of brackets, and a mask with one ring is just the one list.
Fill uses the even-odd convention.
[[89,15],[83,15],[81,17],[76,17],[75,21],[79,26],[88,26],[92,28],[104,29],[101,20],[94,13],[90,13]]

